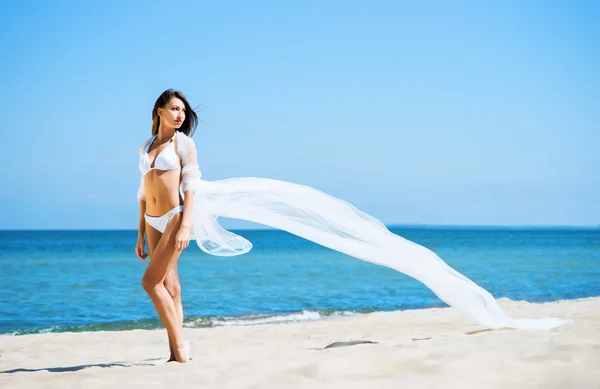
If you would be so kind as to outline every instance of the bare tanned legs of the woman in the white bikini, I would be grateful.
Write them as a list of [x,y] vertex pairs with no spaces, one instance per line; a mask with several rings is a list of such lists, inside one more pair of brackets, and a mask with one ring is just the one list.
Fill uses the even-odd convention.
[[152,299],[154,307],[158,312],[169,336],[169,344],[172,348],[175,360],[187,362],[184,351],[181,320],[173,298],[165,288],[165,280],[169,271],[176,266],[180,252],[175,250],[175,235],[181,223],[181,214],[175,215],[167,228],[162,233],[158,242],[156,238],[160,232],[147,226],[148,251],[150,252],[150,264],[142,279],[144,289]]

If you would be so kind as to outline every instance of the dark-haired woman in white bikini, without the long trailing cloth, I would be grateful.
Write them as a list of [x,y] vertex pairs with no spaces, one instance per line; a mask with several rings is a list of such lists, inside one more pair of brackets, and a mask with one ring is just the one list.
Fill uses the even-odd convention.
[[[138,189],[140,222],[136,255],[150,264],[142,285],[169,336],[169,361],[187,362],[182,336],[183,306],[177,259],[188,247],[192,232],[193,190],[190,181],[199,174],[191,138],[198,118],[185,97],[167,90],[152,110],[152,137],[140,147],[142,178]],[[193,150],[187,150],[193,148]],[[186,158],[178,150],[185,149]],[[199,178],[199,176],[198,176]],[[181,186],[181,193],[180,188]]]

